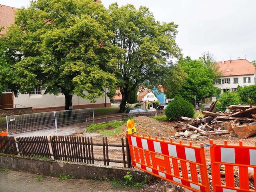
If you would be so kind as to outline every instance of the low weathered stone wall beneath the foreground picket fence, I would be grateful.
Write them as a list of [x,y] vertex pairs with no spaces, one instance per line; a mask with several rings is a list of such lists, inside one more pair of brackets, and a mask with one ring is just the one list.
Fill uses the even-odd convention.
[[123,180],[126,173],[130,172],[135,181],[142,182],[145,176],[148,175],[138,169],[34,159],[8,154],[0,154],[0,167],[52,177],[58,177],[61,173],[62,175],[70,174],[75,178],[96,180]]

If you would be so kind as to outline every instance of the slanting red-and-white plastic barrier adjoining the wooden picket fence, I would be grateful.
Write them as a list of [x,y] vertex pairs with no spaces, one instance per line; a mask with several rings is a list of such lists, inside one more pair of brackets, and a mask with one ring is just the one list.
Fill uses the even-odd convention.
[[133,167],[196,192],[210,192],[204,148],[139,134],[127,138]]

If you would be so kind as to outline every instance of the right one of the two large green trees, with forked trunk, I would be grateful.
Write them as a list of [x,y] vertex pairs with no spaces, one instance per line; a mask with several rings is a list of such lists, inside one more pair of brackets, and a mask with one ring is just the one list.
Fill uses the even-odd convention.
[[122,94],[122,112],[134,89],[139,86],[153,88],[162,83],[169,74],[170,59],[181,57],[175,42],[178,25],[157,22],[144,6],[136,9],[131,4],[118,7],[114,3],[110,5],[109,13],[112,17],[110,28],[114,33],[112,44],[120,49],[115,74]]

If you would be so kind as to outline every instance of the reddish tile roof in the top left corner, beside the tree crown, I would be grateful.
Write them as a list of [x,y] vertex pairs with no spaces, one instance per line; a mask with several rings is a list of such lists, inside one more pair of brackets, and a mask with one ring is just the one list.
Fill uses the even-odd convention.
[[[9,7],[5,5],[0,5],[0,27],[8,27],[14,23],[14,12],[17,8]],[[4,29],[1,34],[5,34],[6,29]]]

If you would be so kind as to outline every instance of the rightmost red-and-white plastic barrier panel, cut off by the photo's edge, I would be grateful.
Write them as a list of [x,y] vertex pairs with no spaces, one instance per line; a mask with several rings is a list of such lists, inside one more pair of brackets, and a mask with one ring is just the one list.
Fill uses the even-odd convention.
[[[255,146],[243,146],[242,141],[239,145],[214,144],[210,140],[210,156],[212,165],[212,187],[213,192],[248,192],[256,191],[249,189],[248,167],[254,170],[256,175],[256,144]],[[221,182],[220,165],[224,165],[225,181]],[[234,166],[239,170],[239,187],[234,183]],[[254,183],[256,179],[254,178]]]

